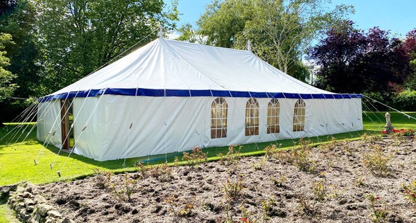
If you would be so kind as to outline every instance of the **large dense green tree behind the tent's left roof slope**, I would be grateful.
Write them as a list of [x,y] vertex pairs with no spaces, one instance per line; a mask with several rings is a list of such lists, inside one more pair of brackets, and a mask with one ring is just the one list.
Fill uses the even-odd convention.
[[162,0],[36,0],[39,48],[46,89],[66,86],[140,41],[157,35],[159,23],[175,27],[177,1],[164,12]]

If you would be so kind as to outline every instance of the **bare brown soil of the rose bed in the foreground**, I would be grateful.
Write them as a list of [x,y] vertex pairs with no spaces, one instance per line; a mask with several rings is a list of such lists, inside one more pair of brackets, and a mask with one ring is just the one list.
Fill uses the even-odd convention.
[[[374,146],[392,156],[386,176],[365,166]],[[113,175],[104,188],[100,175],[37,190],[75,222],[416,222],[416,205],[402,189],[416,180],[414,140],[321,145],[311,148],[315,164],[306,171],[287,154],[153,169],[157,177],[150,170],[146,178]],[[123,185],[133,188],[130,199]],[[235,197],[225,192],[232,186]]]

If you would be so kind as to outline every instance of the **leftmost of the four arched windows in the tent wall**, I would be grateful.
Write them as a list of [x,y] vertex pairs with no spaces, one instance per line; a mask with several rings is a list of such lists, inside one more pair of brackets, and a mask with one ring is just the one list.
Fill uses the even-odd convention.
[[227,102],[215,98],[211,105],[211,139],[227,137]]

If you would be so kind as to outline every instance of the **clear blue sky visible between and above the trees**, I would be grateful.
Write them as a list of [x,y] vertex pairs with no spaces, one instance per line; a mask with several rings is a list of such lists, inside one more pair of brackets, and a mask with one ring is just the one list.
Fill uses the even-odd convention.
[[[177,9],[181,15],[177,27],[186,23],[196,26],[209,3],[211,0],[178,0]],[[342,3],[354,6],[355,13],[349,15],[349,19],[355,22],[356,28],[367,30],[379,26],[381,30],[390,30],[395,37],[404,37],[416,28],[416,0],[332,0],[328,7]]]

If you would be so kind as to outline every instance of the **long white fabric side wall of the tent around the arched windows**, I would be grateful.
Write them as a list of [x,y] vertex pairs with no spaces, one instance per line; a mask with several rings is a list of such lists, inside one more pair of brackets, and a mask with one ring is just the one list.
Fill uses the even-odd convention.
[[[297,99],[279,98],[280,132],[267,134],[270,98],[257,98],[260,109],[259,135],[245,136],[245,105],[248,98],[225,98],[228,105],[227,138],[211,139],[211,103],[214,99],[112,95],[75,98],[75,152],[105,161],[191,150],[194,146],[266,142],[363,129],[359,98],[304,100],[304,132],[293,132],[293,107]],[[55,106],[54,110],[55,113],[59,112],[59,107]],[[82,132],[85,125],[87,128]],[[38,134],[43,132],[47,134],[41,127]]]

